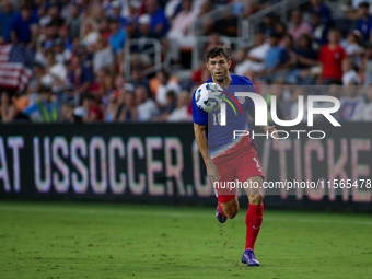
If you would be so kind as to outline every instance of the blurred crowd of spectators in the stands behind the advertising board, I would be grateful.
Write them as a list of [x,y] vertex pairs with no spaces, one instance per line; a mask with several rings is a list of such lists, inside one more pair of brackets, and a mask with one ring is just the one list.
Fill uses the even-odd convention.
[[[276,2],[3,0],[1,45],[34,49],[35,62],[23,92],[1,90],[1,121],[191,120],[193,92],[210,78],[205,62],[187,79],[170,72],[188,67],[183,57],[194,47],[195,35],[210,37],[205,49],[221,44],[221,34],[236,36],[239,14],[249,16]],[[226,5],[233,12],[219,22],[208,16]],[[295,118],[298,96],[312,94],[307,85],[323,84],[328,86],[314,94],[340,100],[335,115],[340,121],[372,120],[370,11],[369,2],[353,0],[342,19],[334,19],[326,3],[311,0],[305,10],[289,11],[288,23],[269,13],[253,45],[233,49],[231,71],[248,77],[268,103],[276,95],[279,118]],[[195,33],[189,34],[193,24]],[[159,39],[162,59],[165,54],[171,58],[170,69],[144,75],[154,63],[146,38]],[[131,39],[139,43],[131,45]],[[130,77],[125,77],[128,49]]]

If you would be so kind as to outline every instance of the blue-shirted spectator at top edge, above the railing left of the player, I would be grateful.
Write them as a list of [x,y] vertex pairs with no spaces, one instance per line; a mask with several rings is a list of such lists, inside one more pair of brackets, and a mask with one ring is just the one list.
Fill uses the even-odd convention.
[[147,0],[146,11],[151,16],[151,30],[163,37],[171,27],[164,10],[158,7],[156,0]]

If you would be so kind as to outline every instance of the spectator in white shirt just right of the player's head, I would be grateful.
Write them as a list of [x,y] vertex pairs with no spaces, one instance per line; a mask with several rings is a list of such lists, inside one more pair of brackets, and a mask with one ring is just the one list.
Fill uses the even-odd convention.
[[265,36],[261,32],[255,33],[254,47],[248,51],[247,57],[242,63],[235,66],[236,74],[244,74],[253,70],[260,72],[265,69],[265,61],[270,45],[265,43]]

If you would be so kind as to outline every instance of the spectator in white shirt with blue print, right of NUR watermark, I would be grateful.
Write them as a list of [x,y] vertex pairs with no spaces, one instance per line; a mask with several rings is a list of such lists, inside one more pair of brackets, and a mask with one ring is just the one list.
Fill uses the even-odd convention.
[[363,119],[364,100],[359,96],[358,86],[346,86],[346,96],[341,97],[339,109],[341,121],[360,121]]

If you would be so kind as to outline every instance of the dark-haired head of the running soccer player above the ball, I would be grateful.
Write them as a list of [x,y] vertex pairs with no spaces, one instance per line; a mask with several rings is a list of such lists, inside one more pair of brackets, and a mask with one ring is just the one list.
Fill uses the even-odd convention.
[[226,46],[212,46],[206,53],[206,65],[217,82],[223,82],[229,77],[231,66],[231,49]]

